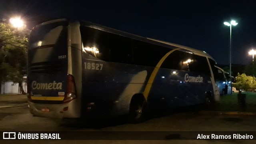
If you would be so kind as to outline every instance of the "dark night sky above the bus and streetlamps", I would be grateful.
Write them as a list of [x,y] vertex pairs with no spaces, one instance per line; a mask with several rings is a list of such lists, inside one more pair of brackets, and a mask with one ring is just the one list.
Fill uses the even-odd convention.
[[28,28],[75,18],[132,34],[204,50],[218,64],[250,64],[256,49],[255,0],[1,0],[0,19],[21,16]]

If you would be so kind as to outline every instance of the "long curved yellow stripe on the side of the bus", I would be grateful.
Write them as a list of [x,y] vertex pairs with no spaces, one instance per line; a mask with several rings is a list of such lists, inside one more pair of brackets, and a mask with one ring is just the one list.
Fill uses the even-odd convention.
[[146,100],[148,99],[148,94],[149,94],[149,92],[150,92],[152,83],[153,83],[153,81],[154,81],[154,79],[155,79],[155,77],[156,77],[156,74],[157,74],[157,72],[158,72],[160,66],[162,65],[162,63],[164,62],[164,60],[165,60],[172,52],[174,52],[175,50],[179,50],[179,49],[180,49],[180,48],[176,48],[176,49],[174,49],[174,50],[171,50],[171,51],[168,52],[167,54],[165,54],[165,55],[161,58],[161,60],[158,62],[158,64],[156,65],[156,67],[154,68],[154,70],[153,70],[151,76],[149,77],[149,80],[148,80],[148,83],[147,83],[147,85],[146,85],[146,88],[145,88],[145,90],[144,90],[144,96],[145,96]]

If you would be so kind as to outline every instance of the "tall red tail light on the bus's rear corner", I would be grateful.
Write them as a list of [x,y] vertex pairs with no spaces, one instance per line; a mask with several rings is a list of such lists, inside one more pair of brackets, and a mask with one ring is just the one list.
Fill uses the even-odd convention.
[[76,99],[76,83],[74,77],[68,74],[68,81],[67,81],[67,92],[63,102],[70,102],[71,100]]

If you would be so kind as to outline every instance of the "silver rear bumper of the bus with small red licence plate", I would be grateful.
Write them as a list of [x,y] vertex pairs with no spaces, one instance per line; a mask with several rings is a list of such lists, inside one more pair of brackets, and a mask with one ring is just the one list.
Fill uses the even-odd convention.
[[45,118],[79,118],[80,105],[77,100],[64,104],[40,104],[28,101],[28,108],[33,116]]

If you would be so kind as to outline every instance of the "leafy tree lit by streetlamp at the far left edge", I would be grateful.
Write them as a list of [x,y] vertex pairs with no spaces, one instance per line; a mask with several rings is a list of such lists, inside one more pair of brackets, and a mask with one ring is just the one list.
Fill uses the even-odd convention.
[[0,84],[11,80],[19,84],[22,93],[23,76],[27,73],[28,36],[28,29],[14,28],[10,24],[0,22]]

